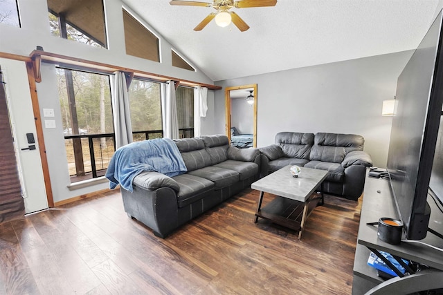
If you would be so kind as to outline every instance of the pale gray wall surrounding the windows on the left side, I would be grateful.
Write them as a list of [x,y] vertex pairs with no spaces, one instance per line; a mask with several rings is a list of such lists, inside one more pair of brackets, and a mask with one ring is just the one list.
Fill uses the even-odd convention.
[[[49,53],[68,55],[79,59],[124,68],[132,68],[134,70],[165,75],[177,79],[213,84],[213,81],[198,68],[194,72],[172,66],[171,46],[168,40],[163,39],[155,30],[152,31],[160,37],[161,63],[126,55],[122,14],[123,2],[120,0],[104,0],[109,49],[94,48],[76,41],[53,37],[49,30],[46,0],[18,0],[18,3],[22,28],[0,24],[0,52],[2,53],[28,56],[35,50],[36,46],[42,46],[44,50]],[[132,12],[130,8],[128,8],[128,10]],[[138,18],[140,19],[140,17]],[[183,57],[187,59],[186,56]],[[12,72],[11,74],[14,74],[14,68],[9,68],[8,70]],[[15,80],[15,83],[21,84],[21,86],[28,91],[28,79],[26,75],[22,81]],[[53,108],[55,110],[55,117],[53,119],[55,119],[57,128],[44,129],[44,141],[46,144],[46,155],[48,157],[54,202],[82,196],[86,193],[109,187],[107,183],[101,183],[73,191],[68,188],[70,179],[67,168],[66,151],[64,149],[62,119],[54,65],[42,64],[42,82],[37,84],[37,95],[39,97],[40,113],[43,114],[43,108]],[[213,91],[208,91],[208,107],[210,109],[208,110],[208,117],[204,118],[204,123],[202,124],[202,134],[204,135],[214,133],[214,123],[213,120],[210,120],[214,117],[213,105]],[[32,120],[30,120],[29,128],[31,129],[33,127],[35,129],[33,115],[31,116]],[[44,121],[44,117],[42,117],[42,120]],[[31,124],[33,126],[31,126]],[[31,170],[29,172],[33,173],[34,171]]]

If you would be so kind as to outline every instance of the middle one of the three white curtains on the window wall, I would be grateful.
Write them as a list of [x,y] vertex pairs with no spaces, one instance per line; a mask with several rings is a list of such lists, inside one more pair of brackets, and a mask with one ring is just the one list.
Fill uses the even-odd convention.
[[163,137],[176,140],[180,135],[174,81],[161,84],[161,106],[163,108]]

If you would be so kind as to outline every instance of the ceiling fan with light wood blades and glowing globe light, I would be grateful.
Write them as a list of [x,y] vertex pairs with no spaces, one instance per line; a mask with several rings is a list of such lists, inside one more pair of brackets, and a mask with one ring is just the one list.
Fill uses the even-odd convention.
[[214,0],[213,3],[186,1],[186,0],[172,0],[170,5],[177,6],[202,6],[213,7],[217,12],[212,12],[201,23],[199,23],[194,30],[202,30],[210,21],[215,18],[217,26],[226,27],[232,21],[239,30],[244,32],[248,30],[249,26],[244,20],[237,15],[237,13],[230,11],[230,8],[251,8],[251,7],[265,7],[275,6],[277,0]]

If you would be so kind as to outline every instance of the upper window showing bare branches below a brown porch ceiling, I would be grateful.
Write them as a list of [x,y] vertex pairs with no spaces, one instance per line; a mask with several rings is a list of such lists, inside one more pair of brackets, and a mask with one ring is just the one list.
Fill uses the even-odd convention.
[[107,48],[102,0],[47,1],[52,35]]

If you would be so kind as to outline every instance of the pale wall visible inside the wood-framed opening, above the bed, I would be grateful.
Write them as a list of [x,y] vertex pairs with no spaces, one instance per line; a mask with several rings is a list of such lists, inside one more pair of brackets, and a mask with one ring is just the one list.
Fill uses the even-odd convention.
[[241,134],[254,133],[254,108],[246,99],[230,100],[230,126]]

